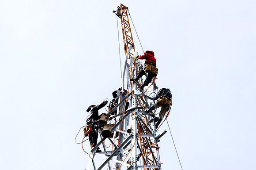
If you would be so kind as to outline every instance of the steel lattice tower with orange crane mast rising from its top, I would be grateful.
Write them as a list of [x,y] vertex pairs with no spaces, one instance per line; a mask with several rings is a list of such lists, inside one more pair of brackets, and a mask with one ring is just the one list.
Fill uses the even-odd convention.
[[[116,90],[117,104],[106,113],[107,123],[99,130],[101,140],[92,148],[86,170],[161,170],[158,142],[166,131],[158,134],[154,112],[145,112],[156,102],[155,79],[144,90],[141,78],[130,81],[143,69],[142,63],[135,59],[128,7],[120,4],[113,12],[120,18],[124,40],[122,85]],[[97,152],[99,146],[102,152]]]

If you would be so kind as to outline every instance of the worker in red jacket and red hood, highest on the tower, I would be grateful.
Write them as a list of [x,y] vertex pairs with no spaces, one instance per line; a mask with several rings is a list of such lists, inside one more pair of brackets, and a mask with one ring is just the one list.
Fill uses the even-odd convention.
[[157,75],[158,69],[156,68],[156,59],[154,58],[153,51],[146,51],[144,55],[137,56],[135,59],[137,58],[140,60],[145,59],[145,68],[138,73],[135,79],[130,80],[137,82],[143,75],[147,76],[147,79],[141,85],[141,89],[143,90],[143,88],[151,83],[152,79]]

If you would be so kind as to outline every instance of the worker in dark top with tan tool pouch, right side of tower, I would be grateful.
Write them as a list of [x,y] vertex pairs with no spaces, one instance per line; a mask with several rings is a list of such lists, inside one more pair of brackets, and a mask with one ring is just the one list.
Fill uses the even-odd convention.
[[[158,99],[159,98],[159,99]],[[158,101],[151,106],[150,109],[148,109],[146,112],[149,113],[154,109],[157,109],[161,107],[161,110],[159,112],[159,119],[156,123],[156,128],[158,128],[160,122],[164,118],[167,110],[169,109],[170,106],[172,106],[172,94],[171,91],[168,88],[162,88],[158,91],[158,95],[155,97],[155,99]]]

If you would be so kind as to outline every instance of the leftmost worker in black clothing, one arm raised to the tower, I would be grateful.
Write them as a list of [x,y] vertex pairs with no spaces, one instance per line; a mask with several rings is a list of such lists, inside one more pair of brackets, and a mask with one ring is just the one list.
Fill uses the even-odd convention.
[[[99,119],[99,109],[102,109],[108,101],[103,101],[100,105],[90,105],[88,109],[86,110],[88,112],[86,124],[90,125],[91,131],[88,135],[90,146],[95,147],[97,145],[97,139],[98,139],[98,122]],[[99,147],[97,148],[96,152],[101,152]]]

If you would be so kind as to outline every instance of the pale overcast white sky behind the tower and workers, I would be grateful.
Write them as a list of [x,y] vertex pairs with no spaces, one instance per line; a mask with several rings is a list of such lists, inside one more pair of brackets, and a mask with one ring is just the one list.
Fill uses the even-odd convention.
[[[0,169],[86,168],[74,138],[88,105],[121,86],[120,3],[172,91],[183,170],[256,169],[255,0],[2,0]],[[159,145],[162,169],[180,170],[169,132]]]

